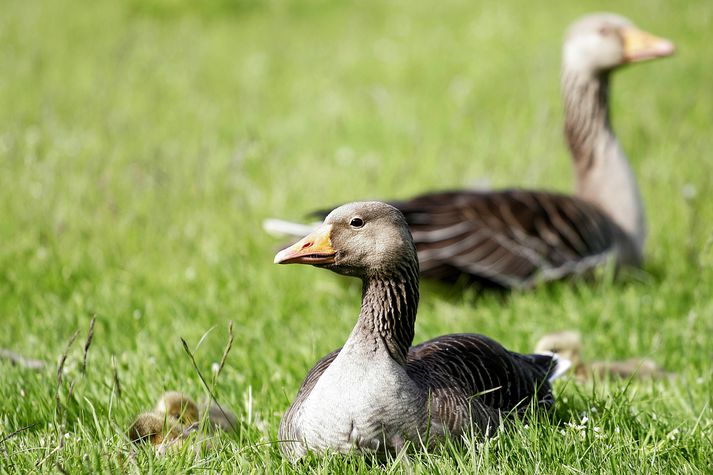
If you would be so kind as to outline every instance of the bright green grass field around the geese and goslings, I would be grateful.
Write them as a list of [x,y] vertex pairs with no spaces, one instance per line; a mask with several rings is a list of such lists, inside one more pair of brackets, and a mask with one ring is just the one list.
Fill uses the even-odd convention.
[[[5,0],[0,347],[49,365],[0,362],[0,472],[712,473],[713,3],[546,5]],[[614,78],[643,271],[506,297],[426,283],[416,341],[478,332],[528,351],[577,329],[588,359],[651,357],[676,378],[565,380],[551,418],[487,441],[291,467],[280,416],[349,334],[359,283],[272,265],[261,221],[483,179],[570,190],[561,38],[602,9],[679,48]],[[131,456],[126,428],[163,391],[207,394],[181,337],[240,430],[197,457]]]

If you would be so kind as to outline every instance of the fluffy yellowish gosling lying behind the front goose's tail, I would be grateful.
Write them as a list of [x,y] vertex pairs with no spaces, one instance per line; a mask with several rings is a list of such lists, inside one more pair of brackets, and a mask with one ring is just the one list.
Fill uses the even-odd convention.
[[590,361],[582,359],[582,337],[572,330],[550,333],[543,336],[535,346],[535,353],[554,353],[572,363],[574,374],[579,379],[604,378],[671,378],[669,373],[649,358],[629,358],[620,361]]

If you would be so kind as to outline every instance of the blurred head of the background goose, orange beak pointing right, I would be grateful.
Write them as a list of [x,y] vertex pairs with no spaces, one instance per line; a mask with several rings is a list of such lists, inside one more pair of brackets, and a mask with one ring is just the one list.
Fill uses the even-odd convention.
[[587,15],[570,26],[564,43],[564,65],[592,75],[628,63],[670,56],[673,43],[638,29],[613,13]]

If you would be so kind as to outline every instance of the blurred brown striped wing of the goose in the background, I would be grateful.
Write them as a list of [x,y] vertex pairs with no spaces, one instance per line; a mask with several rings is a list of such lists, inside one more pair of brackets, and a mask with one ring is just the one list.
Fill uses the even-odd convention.
[[583,273],[623,233],[595,205],[543,191],[447,191],[391,204],[406,216],[421,273],[445,280],[526,287]]

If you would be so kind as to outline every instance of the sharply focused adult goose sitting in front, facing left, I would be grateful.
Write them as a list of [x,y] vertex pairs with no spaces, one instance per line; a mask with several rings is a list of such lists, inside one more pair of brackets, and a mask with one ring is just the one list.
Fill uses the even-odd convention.
[[313,233],[275,256],[362,280],[359,319],[344,346],[307,374],[280,423],[284,453],[353,449],[379,455],[406,442],[432,445],[501,417],[554,402],[554,355],[521,355],[482,335],[454,334],[411,347],[418,259],[403,214],[380,202],[332,211]]

